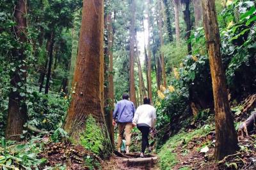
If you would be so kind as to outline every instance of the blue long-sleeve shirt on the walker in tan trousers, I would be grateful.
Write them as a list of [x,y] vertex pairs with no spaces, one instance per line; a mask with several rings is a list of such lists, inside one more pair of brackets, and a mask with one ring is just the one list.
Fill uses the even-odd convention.
[[135,113],[134,104],[131,101],[123,99],[116,103],[115,110],[113,112],[113,119],[117,119],[117,122],[132,122]]

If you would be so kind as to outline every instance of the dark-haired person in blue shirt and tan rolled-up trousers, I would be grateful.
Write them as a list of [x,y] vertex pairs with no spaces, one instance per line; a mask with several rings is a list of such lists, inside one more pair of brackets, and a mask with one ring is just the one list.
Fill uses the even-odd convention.
[[125,145],[126,145],[126,153],[129,153],[129,146],[131,144],[131,130],[133,128],[132,119],[135,113],[134,104],[129,101],[129,95],[123,94],[122,100],[118,101],[115,106],[115,110],[113,112],[113,126],[115,126],[117,122],[118,126],[118,140],[117,140],[117,148],[118,152],[121,152],[122,145],[122,137],[125,134]]

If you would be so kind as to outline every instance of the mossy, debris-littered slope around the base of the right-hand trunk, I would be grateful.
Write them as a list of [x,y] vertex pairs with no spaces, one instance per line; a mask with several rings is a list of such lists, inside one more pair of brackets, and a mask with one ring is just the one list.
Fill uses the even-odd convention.
[[[233,106],[236,129],[256,108],[256,96]],[[183,128],[157,151],[160,169],[256,169],[256,135],[239,139],[239,151],[220,162],[214,160],[214,117],[193,122],[194,129]]]

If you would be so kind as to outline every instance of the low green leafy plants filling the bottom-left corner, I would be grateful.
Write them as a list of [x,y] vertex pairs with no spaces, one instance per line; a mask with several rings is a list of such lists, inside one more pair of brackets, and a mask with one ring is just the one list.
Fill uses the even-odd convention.
[[37,136],[27,143],[15,144],[13,141],[1,138],[0,165],[3,169],[8,169],[8,166],[13,169],[38,169],[38,166],[47,161],[44,158],[38,159],[38,153],[44,146],[41,139],[40,136]]

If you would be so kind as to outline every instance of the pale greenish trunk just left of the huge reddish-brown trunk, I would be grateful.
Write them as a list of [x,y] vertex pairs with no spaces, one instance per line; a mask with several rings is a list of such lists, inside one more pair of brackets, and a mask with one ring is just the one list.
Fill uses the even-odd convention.
[[76,66],[80,14],[81,14],[81,10],[78,10],[74,13],[74,27],[72,29],[72,51],[71,51],[70,69],[69,69],[69,76],[68,76],[68,90],[72,88],[72,79],[74,76],[74,70]]

